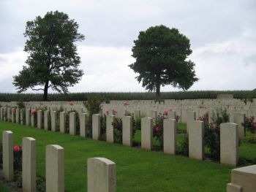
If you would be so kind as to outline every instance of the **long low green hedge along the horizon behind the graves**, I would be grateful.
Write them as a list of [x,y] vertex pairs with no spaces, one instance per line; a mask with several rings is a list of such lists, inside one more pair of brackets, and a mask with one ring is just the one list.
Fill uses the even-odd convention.
[[[216,99],[218,94],[233,94],[235,99],[256,98],[256,91],[178,91],[162,92],[161,99]],[[153,100],[155,93],[50,93],[49,101],[85,101],[89,94],[104,96],[108,100]],[[42,101],[41,93],[0,93],[0,101]]]

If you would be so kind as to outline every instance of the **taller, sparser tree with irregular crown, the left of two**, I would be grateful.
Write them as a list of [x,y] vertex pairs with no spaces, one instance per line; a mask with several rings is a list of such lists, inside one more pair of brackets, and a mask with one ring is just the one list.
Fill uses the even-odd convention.
[[68,87],[75,85],[83,76],[78,69],[80,57],[76,41],[84,39],[78,33],[78,23],[63,12],[47,12],[41,18],[26,23],[24,50],[29,53],[27,66],[14,76],[13,85],[18,93],[32,90],[44,91],[48,100],[48,88],[59,93],[68,93]]

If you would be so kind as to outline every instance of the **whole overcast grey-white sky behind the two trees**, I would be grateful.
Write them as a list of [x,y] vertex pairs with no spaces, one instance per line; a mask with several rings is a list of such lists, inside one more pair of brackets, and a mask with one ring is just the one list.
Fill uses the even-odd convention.
[[135,61],[133,41],[161,24],[190,39],[189,59],[200,80],[189,90],[256,88],[255,0],[0,0],[1,93],[15,93],[12,76],[25,65],[26,21],[56,10],[75,19],[86,36],[78,44],[85,74],[70,92],[146,91],[128,66]]

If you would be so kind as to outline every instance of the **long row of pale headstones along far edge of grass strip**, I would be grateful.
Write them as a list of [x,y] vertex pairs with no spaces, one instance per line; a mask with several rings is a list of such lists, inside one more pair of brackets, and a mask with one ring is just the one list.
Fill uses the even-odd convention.
[[[13,113],[14,110],[12,110]],[[18,109],[16,109],[18,112]],[[44,111],[44,125],[48,130],[48,113]],[[26,110],[26,125],[29,126],[31,119],[31,126],[34,126],[34,118],[37,118],[37,128],[42,128],[42,111],[37,111],[37,117],[30,116],[30,110]],[[75,112],[69,113],[69,134],[76,134],[76,117]],[[66,129],[66,116],[67,112],[60,113],[60,132],[64,133]],[[88,115],[81,113],[80,115],[80,137],[86,137],[86,124],[88,123]],[[17,116],[16,116],[17,117]],[[92,115],[92,139],[98,140],[100,137],[100,117],[99,114]],[[145,150],[152,150],[153,148],[153,124],[157,118],[156,111],[151,111],[151,117],[141,119],[141,148]],[[51,131],[56,131],[56,112],[51,112]],[[164,120],[164,153],[176,154],[176,112],[168,112],[168,118]],[[113,122],[115,115],[107,115],[106,120],[106,141],[114,142],[114,128]],[[195,120],[195,112],[187,112],[187,133],[189,133],[189,157],[202,160],[204,158],[204,125],[202,121]],[[244,137],[244,114],[234,113],[234,123],[222,123],[220,130],[220,162],[222,164],[235,165],[238,163],[238,139]],[[17,121],[16,121],[17,122]],[[124,116],[122,118],[123,134],[122,144],[132,146],[132,117]],[[228,149],[228,150],[227,150]]]

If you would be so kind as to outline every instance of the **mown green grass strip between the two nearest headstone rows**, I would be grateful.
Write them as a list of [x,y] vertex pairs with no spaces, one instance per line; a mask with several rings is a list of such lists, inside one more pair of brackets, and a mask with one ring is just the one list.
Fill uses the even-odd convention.
[[[70,192],[86,191],[86,160],[92,157],[105,157],[116,163],[117,191],[121,192],[225,192],[233,169],[181,155],[167,155],[7,122],[0,122],[0,140],[5,130],[14,133],[15,145],[21,145],[23,137],[37,139],[37,174],[42,177],[45,177],[45,146],[56,144],[64,147],[65,190]],[[246,150],[247,146],[243,146]],[[246,152],[242,154],[248,155]]]

